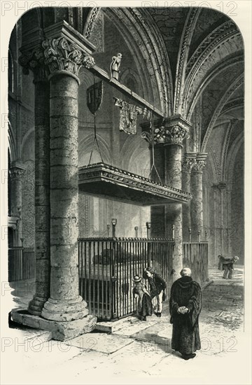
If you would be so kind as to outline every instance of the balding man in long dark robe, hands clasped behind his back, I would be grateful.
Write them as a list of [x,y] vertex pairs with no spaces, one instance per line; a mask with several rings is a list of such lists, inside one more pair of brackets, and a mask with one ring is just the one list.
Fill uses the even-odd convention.
[[194,358],[200,349],[199,315],[202,309],[202,290],[191,278],[188,267],[181,270],[171,289],[169,310],[171,314],[172,349],[179,351],[182,358]]

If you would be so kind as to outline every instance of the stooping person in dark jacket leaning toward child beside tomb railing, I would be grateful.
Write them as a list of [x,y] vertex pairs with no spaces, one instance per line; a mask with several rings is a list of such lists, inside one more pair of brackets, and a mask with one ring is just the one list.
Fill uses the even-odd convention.
[[162,314],[162,302],[165,300],[166,282],[152,267],[146,267],[145,277],[151,288],[151,300],[153,302],[154,314],[160,317]]

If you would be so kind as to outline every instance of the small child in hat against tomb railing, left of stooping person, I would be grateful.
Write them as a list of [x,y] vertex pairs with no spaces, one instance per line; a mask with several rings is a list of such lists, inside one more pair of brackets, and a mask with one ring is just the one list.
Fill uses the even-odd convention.
[[146,321],[146,316],[153,314],[153,307],[151,303],[151,296],[144,283],[141,282],[141,277],[135,275],[132,279],[135,286],[133,288],[133,295],[138,298],[137,301],[137,314],[141,321]]

